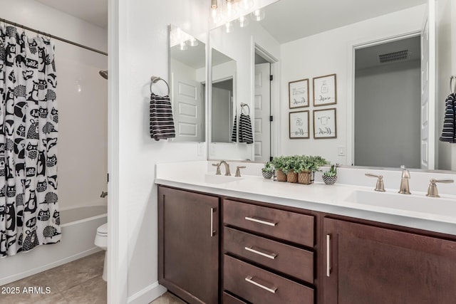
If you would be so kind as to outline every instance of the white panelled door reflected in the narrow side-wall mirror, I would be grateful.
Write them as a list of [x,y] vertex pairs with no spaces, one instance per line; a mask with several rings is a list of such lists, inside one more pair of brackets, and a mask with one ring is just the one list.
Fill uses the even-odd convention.
[[204,142],[202,84],[173,73],[171,100],[176,140]]

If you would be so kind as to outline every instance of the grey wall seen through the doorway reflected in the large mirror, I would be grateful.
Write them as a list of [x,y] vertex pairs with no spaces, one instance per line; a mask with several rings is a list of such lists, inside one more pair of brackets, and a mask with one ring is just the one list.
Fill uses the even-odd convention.
[[356,70],[356,166],[420,167],[420,77],[419,59]]

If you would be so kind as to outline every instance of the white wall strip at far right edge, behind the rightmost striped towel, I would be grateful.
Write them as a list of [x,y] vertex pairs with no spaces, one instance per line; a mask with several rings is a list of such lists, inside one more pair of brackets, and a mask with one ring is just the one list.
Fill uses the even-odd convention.
[[[450,93],[450,76],[456,75],[456,4],[452,0],[436,0],[436,37],[437,37],[437,125],[436,138],[442,135],[443,118],[445,117],[445,98]],[[450,64],[449,64],[450,63]],[[456,145],[448,142],[437,144],[437,169],[456,169]]]

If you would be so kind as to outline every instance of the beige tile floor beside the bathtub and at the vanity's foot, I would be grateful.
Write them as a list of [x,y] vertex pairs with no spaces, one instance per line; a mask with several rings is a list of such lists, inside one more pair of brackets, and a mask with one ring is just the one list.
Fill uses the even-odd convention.
[[[100,251],[0,286],[0,304],[104,304],[107,298],[106,282],[101,278],[104,257],[105,251]],[[11,288],[19,289],[19,293],[5,293]],[[24,288],[35,290],[26,293]],[[181,303],[185,302],[171,293],[165,293],[150,304]]]

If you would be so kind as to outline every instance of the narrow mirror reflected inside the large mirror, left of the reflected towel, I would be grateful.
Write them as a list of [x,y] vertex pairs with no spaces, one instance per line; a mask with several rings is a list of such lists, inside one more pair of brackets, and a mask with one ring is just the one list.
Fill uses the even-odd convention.
[[[236,61],[212,48],[211,142],[232,142]],[[236,134],[234,134],[236,136]],[[236,137],[234,137],[236,138]]]

